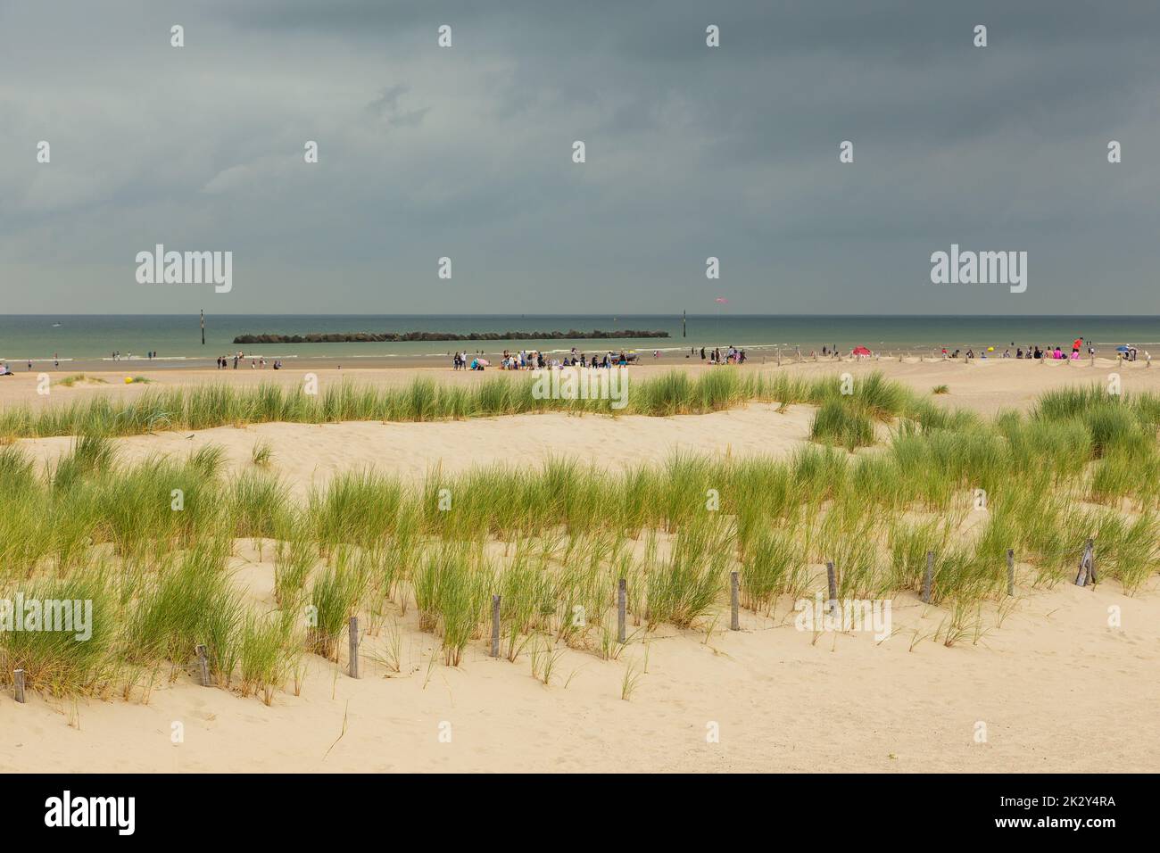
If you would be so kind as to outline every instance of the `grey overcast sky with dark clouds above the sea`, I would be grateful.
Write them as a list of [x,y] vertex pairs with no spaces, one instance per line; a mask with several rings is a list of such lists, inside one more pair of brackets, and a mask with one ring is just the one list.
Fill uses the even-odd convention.
[[[0,0],[0,311],[1157,315],[1158,45],[1157,0]],[[157,243],[232,292],[138,284]],[[1027,292],[931,284],[952,243]]]

